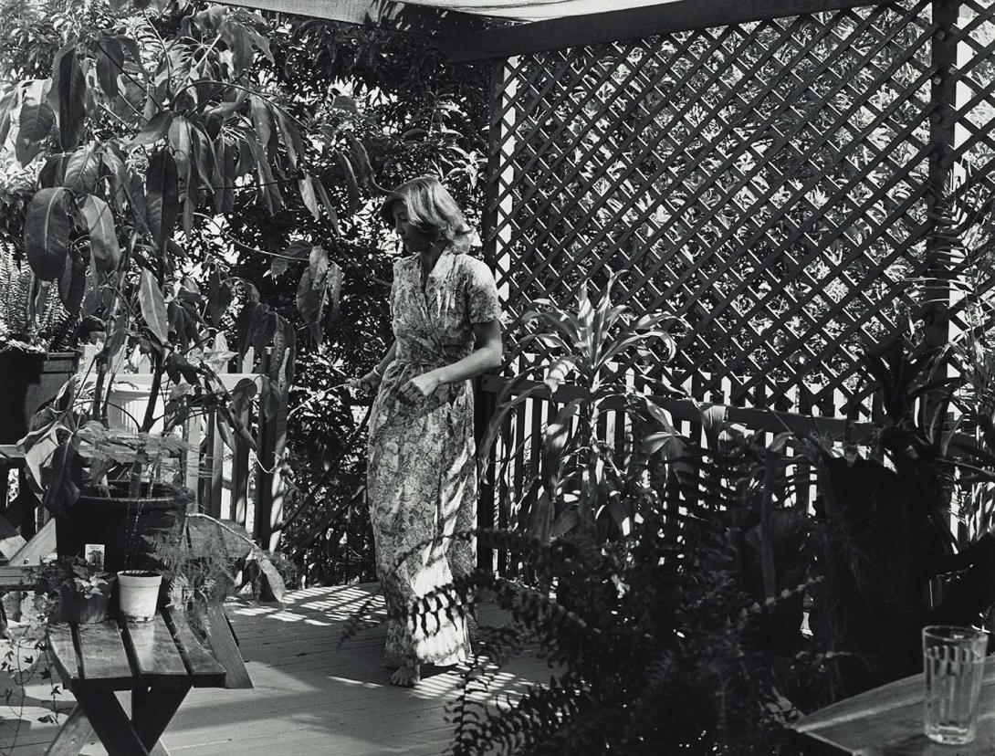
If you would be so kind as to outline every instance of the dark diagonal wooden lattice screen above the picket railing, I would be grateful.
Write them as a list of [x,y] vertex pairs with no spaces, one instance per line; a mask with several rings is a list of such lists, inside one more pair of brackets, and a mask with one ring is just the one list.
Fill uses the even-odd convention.
[[[648,377],[838,412],[862,342],[902,327],[934,273],[930,11],[900,2],[506,61],[487,232],[508,308],[567,303],[625,270],[630,304],[683,323],[677,359]],[[982,169],[968,194],[995,146],[993,16],[967,3],[957,32],[951,164]]]

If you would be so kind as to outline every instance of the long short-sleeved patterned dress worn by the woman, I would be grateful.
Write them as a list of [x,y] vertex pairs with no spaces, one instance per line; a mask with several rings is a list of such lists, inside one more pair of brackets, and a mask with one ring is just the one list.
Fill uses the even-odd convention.
[[[395,358],[384,371],[370,416],[367,473],[377,573],[381,581],[393,575],[391,582],[406,601],[473,570],[473,546],[452,535],[474,527],[477,468],[469,380],[441,384],[412,403],[398,399],[398,391],[410,378],[469,355],[473,324],[500,315],[494,276],[469,255],[444,251],[424,292],[421,280],[418,255],[394,264]],[[457,614],[440,613],[427,628],[388,623],[389,664],[443,665],[469,654],[467,626]]]

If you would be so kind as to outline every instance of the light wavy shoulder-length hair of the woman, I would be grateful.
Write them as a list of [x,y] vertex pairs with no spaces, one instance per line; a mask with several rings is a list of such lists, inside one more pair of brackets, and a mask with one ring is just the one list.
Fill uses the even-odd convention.
[[394,208],[398,203],[403,204],[408,211],[408,220],[421,233],[435,240],[445,239],[457,252],[470,249],[474,231],[453,195],[439,179],[419,176],[388,192],[380,206],[380,218],[388,226],[394,223]]

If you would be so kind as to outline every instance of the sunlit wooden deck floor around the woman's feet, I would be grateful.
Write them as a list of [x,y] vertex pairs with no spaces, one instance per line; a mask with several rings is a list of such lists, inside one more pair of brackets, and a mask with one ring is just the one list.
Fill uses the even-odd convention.
[[[174,756],[373,756],[443,754],[452,728],[444,708],[458,691],[456,670],[438,673],[414,689],[387,684],[382,666],[384,628],[363,630],[335,650],[349,611],[373,595],[374,585],[311,588],[291,594],[283,607],[231,605],[255,688],[191,691],[162,740]],[[497,625],[495,607],[481,609],[482,624]],[[495,694],[544,680],[542,661],[524,657],[499,676]],[[44,754],[56,725],[37,721],[51,713],[48,688],[31,685],[19,713],[0,699],[0,754]],[[57,708],[65,714],[73,698]],[[16,742],[15,742],[16,734]],[[98,743],[84,754],[104,754]]]

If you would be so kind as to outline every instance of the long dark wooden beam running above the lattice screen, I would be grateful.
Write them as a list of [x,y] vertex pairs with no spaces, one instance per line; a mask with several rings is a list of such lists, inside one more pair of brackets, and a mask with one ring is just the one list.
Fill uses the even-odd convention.
[[652,6],[464,34],[448,38],[441,47],[454,63],[483,61],[882,4],[881,0],[662,0]]

